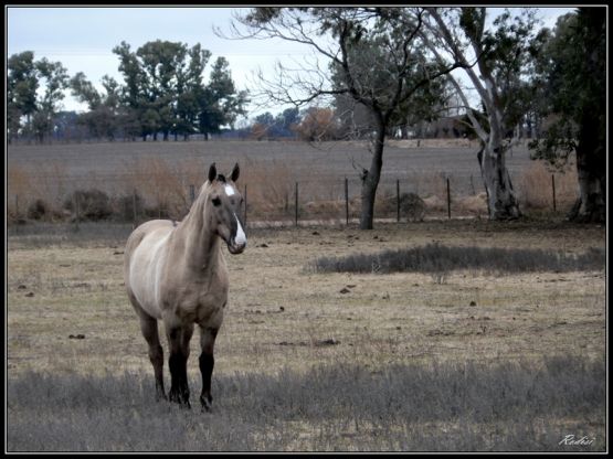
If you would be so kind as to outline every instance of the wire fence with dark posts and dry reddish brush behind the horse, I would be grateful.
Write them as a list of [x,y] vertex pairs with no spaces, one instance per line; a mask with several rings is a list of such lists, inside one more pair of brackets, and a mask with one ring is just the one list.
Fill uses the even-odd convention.
[[[138,177],[130,173],[95,178],[32,175],[38,186],[11,186],[8,194],[8,221],[63,221],[78,225],[83,221],[112,220],[138,225],[151,218],[180,221],[195,200],[201,180],[186,174]],[[239,180],[243,194],[242,213],[246,226],[306,225],[313,222],[351,224],[362,207],[361,181],[357,177],[313,177],[292,180],[275,174],[268,180]],[[568,205],[568,185],[560,186],[554,174],[542,186],[539,203],[532,206],[557,212]],[[562,192],[562,195],[560,193]],[[558,193],[558,195],[557,195]],[[521,190],[519,190],[519,194]],[[571,196],[572,198],[572,196]],[[532,201],[535,199],[532,198]],[[383,177],[374,204],[374,218],[419,222],[432,218],[487,217],[486,193],[480,177],[448,172]]]

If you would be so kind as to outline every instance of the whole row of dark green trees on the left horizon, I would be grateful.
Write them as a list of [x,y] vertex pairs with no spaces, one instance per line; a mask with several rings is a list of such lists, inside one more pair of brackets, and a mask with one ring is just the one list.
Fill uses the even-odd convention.
[[[204,71],[211,52],[200,44],[152,41],[136,51],[121,42],[113,49],[124,81],[105,75],[103,90],[78,72],[70,77],[60,62],[34,60],[34,53],[13,54],[8,61],[8,137],[34,139],[89,138],[115,140],[205,139],[245,115],[246,92],[236,89],[229,63],[218,57],[208,82]],[[42,88],[43,90],[39,90]],[[60,111],[70,89],[88,111]]]

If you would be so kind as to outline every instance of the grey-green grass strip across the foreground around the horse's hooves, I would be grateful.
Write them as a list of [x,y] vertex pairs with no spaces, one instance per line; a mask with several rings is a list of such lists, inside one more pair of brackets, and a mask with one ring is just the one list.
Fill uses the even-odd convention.
[[[603,361],[352,364],[222,375],[213,412],[155,403],[152,376],[9,378],[18,451],[601,451]],[[193,387],[199,387],[192,381]],[[195,395],[194,395],[195,394]],[[560,445],[568,434],[590,446]]]

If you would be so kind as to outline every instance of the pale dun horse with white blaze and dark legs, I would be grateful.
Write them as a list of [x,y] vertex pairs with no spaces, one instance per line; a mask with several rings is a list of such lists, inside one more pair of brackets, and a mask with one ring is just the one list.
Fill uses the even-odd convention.
[[[149,345],[156,380],[156,399],[190,407],[187,363],[194,324],[200,329],[202,410],[212,406],[213,348],[228,301],[229,276],[222,242],[241,254],[247,243],[240,216],[243,199],[236,189],[240,168],[229,178],[209,168],[188,215],[181,222],[152,220],[129,235],[124,250],[127,295]],[[163,350],[158,335],[163,322],[170,356],[171,387],[163,388]]]

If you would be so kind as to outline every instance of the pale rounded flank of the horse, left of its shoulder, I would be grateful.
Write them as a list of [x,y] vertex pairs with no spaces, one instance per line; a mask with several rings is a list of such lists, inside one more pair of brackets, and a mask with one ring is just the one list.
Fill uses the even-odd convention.
[[124,252],[124,280],[128,295],[152,317],[160,318],[156,290],[163,244],[175,225],[152,220],[138,226],[128,237]]

